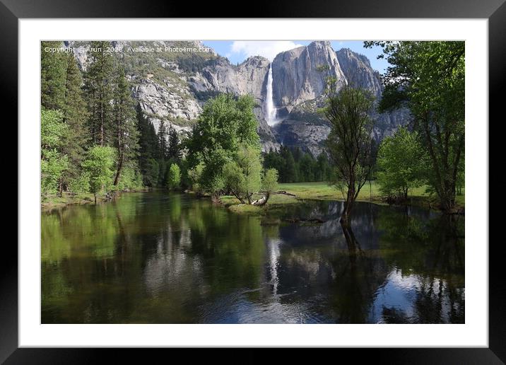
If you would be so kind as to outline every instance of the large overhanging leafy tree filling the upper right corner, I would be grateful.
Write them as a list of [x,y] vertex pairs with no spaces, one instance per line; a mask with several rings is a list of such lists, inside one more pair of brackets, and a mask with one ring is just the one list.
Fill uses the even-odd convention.
[[365,42],[383,47],[389,64],[380,110],[407,106],[430,158],[428,182],[452,212],[464,158],[465,43]]

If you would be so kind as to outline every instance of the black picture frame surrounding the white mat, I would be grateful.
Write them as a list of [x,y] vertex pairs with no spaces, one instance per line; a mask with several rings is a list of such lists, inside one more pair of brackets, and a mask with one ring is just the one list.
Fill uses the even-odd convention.
[[[212,4],[211,4],[212,5]],[[189,1],[151,0],[0,0],[0,80],[4,110],[18,110],[18,19],[19,18],[185,18],[192,16],[223,18],[225,8],[237,8],[220,1],[219,6],[204,8]],[[230,17],[237,17],[230,14]],[[333,1],[256,1],[248,15],[253,18],[487,18],[489,49],[489,120],[499,118],[505,100],[506,79],[506,4],[505,0],[354,0]],[[64,31],[62,31],[64,37]],[[466,100],[467,102],[468,100]],[[17,120],[17,118],[16,118]],[[501,117],[504,120],[504,117]],[[497,122],[501,120],[498,119]],[[11,122],[12,123],[12,122]],[[484,121],[483,127],[486,127]],[[17,131],[14,133],[17,134]],[[489,144],[493,145],[491,142]],[[492,156],[492,153],[489,152]],[[491,166],[491,165],[490,165]],[[491,181],[491,180],[489,180]],[[504,186],[504,178],[495,180]],[[22,194],[23,192],[18,192]],[[488,200],[488,195],[483,197]],[[488,214],[488,212],[483,212]],[[489,214],[489,217],[492,217]],[[23,219],[23,216],[18,216]],[[495,218],[495,219],[500,219]],[[490,226],[490,223],[489,223]],[[340,349],[353,352],[360,361],[375,357],[389,364],[504,364],[506,362],[506,290],[500,255],[502,242],[495,241],[489,250],[489,347],[430,349]],[[488,245],[488,242],[473,244]],[[114,349],[28,349],[18,348],[18,250],[5,240],[0,265],[0,362],[6,364],[93,363],[105,353],[114,352],[115,361],[132,359],[131,351]],[[10,250],[9,250],[10,249]],[[10,252],[9,252],[10,251]],[[171,351],[175,351],[172,349]],[[298,351],[291,356],[298,356]],[[244,361],[261,359],[258,355]]]

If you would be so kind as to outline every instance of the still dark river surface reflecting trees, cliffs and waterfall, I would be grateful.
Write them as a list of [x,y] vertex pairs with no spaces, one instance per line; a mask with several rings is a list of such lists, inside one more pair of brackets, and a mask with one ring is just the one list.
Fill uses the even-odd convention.
[[42,323],[464,323],[463,216],[357,203],[350,242],[341,209],[150,192],[42,212]]

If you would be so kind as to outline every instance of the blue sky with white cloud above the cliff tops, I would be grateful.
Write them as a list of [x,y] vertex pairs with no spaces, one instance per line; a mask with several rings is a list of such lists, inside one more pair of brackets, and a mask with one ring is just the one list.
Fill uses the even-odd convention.
[[[204,45],[212,47],[221,56],[227,57],[233,64],[241,63],[249,56],[264,56],[273,59],[279,52],[291,50],[300,45],[309,45],[311,40],[204,40]],[[354,52],[365,54],[370,59],[373,69],[383,74],[386,71],[388,62],[384,59],[377,59],[382,53],[380,47],[364,48],[361,40],[332,40],[332,48],[338,51],[341,48],[349,48]]]

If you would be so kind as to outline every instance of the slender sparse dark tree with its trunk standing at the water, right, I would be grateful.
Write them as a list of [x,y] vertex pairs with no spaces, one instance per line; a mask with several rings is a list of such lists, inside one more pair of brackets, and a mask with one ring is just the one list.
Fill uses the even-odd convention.
[[325,141],[331,165],[334,167],[334,184],[343,196],[345,204],[341,224],[349,225],[349,217],[360,189],[367,181],[373,166],[372,127],[369,117],[374,98],[362,88],[343,86],[337,88],[335,80],[326,89],[324,115],[331,124]]

